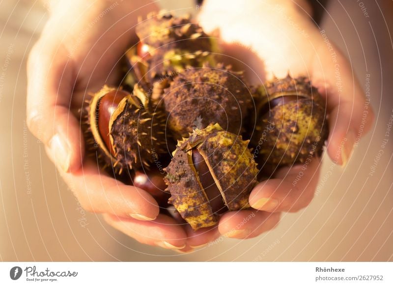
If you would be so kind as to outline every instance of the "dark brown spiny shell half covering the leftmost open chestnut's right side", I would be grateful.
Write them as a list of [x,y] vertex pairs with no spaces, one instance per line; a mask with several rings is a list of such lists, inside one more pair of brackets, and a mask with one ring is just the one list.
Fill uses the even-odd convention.
[[151,112],[147,97],[137,91],[142,92],[136,86],[120,101],[109,121],[114,166],[121,169],[149,168],[155,156],[166,152],[165,114]]

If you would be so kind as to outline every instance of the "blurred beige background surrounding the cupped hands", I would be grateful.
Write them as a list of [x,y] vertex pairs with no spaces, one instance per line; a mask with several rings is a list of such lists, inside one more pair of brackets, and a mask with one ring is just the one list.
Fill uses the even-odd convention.
[[[363,86],[370,74],[376,124],[345,169],[324,156],[321,182],[307,209],[283,214],[276,229],[258,238],[223,238],[180,255],[140,245],[99,215],[84,213],[58,177],[25,123],[26,59],[47,14],[38,1],[0,1],[0,260],[393,261],[392,132],[378,156],[393,115],[393,2],[364,1],[368,18],[356,1],[331,2],[322,27]],[[161,5],[195,8],[192,1]]]

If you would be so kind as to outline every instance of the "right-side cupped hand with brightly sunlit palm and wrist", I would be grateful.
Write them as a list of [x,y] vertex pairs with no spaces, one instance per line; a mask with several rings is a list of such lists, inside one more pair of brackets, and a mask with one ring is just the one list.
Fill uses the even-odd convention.
[[[208,33],[219,29],[223,53],[246,71],[253,84],[261,85],[273,76],[285,77],[288,72],[293,77],[309,77],[326,100],[330,127],[327,153],[344,166],[355,141],[370,129],[374,115],[350,64],[316,28],[308,12],[307,3],[300,0],[252,0],[247,4],[206,0],[199,21]],[[303,165],[282,168],[274,178],[259,183],[249,199],[259,210],[258,216],[250,217],[251,210],[226,213],[220,220],[220,233],[254,237],[276,225],[281,211],[307,206],[318,183],[319,166],[320,159],[313,158],[306,169]],[[247,223],[242,224],[245,219]]]

